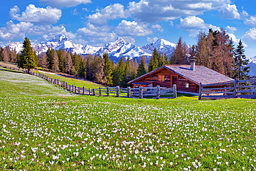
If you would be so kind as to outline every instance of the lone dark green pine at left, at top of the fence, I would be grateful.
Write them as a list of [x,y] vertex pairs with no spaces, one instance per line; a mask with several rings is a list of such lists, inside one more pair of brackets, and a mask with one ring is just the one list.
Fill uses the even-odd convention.
[[27,69],[29,73],[31,69],[37,66],[36,62],[35,52],[33,52],[30,40],[26,37],[23,43],[23,50],[19,55],[18,66],[19,68]]

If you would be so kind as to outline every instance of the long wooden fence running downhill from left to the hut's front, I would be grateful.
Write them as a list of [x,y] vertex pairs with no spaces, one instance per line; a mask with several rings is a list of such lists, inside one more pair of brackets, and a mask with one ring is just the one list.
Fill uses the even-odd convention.
[[153,87],[147,87],[147,88],[120,88],[119,86],[116,87],[107,87],[107,88],[80,88],[74,85],[70,85],[65,81],[61,81],[59,79],[52,79],[45,74],[42,73],[35,73],[30,72],[30,74],[33,74],[37,77],[41,77],[42,79],[46,79],[50,83],[57,84],[59,86],[62,86],[63,88],[66,88],[66,90],[73,92],[75,94],[88,94],[92,96],[106,96],[106,97],[127,97],[127,98],[153,98],[153,99],[160,99],[160,98],[176,98],[177,92],[176,92],[176,85],[173,86],[173,88],[161,88],[160,86],[157,86],[155,88]]

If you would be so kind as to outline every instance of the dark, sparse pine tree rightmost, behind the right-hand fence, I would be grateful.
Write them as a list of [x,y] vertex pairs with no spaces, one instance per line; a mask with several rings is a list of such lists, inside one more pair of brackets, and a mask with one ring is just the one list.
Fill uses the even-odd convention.
[[246,55],[244,54],[244,46],[243,42],[239,41],[237,48],[235,49],[235,76],[234,78],[237,78],[239,80],[241,79],[248,79],[249,75],[249,68],[247,66],[248,59],[246,59]]

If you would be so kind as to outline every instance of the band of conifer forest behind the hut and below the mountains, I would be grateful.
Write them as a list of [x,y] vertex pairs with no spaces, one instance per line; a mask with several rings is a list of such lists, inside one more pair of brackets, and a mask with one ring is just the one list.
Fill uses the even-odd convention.
[[[29,55],[26,54],[28,51]],[[126,87],[128,81],[165,64],[189,64],[190,59],[196,59],[197,65],[206,66],[234,79],[248,79],[249,77],[249,67],[246,66],[248,59],[244,54],[242,41],[240,40],[235,47],[234,42],[223,29],[209,29],[208,33],[200,32],[196,45],[191,47],[188,47],[180,37],[171,57],[168,58],[166,54],[155,49],[150,61],[146,61],[145,57],[140,57],[139,62],[122,57],[118,63],[114,63],[109,60],[107,53],[102,56],[91,54],[83,56],[66,52],[66,50],[53,49],[36,55],[31,49],[28,38],[24,41],[24,50],[18,54],[10,48],[0,48],[0,61],[18,63],[20,68],[41,67],[53,72],[75,75],[106,86],[122,87]]]

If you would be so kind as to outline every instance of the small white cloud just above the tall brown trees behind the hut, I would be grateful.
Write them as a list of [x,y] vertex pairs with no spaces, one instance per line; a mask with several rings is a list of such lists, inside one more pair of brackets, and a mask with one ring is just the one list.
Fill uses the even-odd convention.
[[179,28],[185,29],[202,29],[207,28],[207,24],[203,21],[203,19],[195,16],[186,17],[185,19],[180,19],[181,23],[179,24]]

